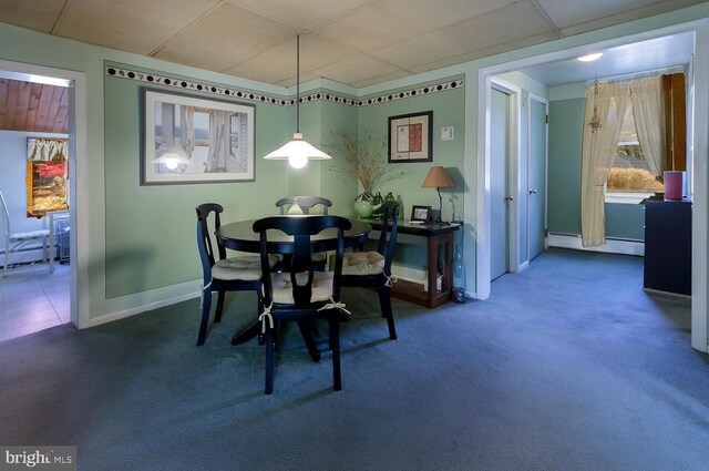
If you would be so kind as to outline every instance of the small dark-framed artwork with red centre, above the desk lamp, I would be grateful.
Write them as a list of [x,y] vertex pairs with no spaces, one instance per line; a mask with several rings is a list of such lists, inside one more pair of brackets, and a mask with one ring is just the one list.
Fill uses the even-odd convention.
[[389,117],[389,163],[433,161],[433,112]]

